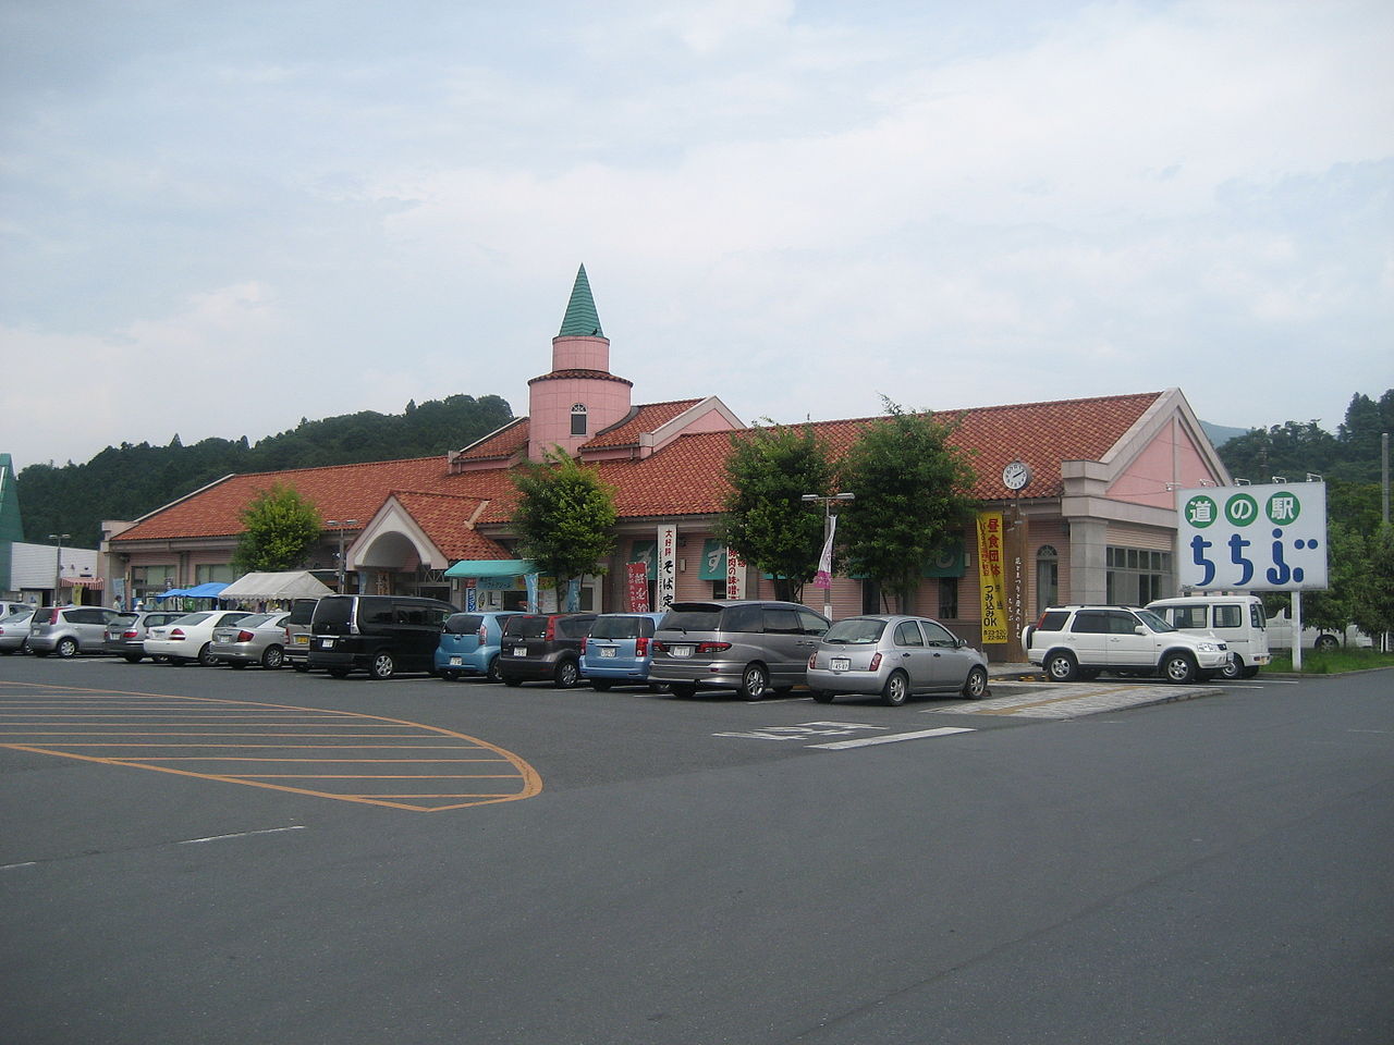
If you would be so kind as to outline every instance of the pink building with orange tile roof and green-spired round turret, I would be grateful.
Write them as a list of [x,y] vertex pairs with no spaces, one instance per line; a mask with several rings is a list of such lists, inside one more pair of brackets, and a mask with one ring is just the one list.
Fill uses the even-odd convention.
[[[560,447],[598,468],[618,492],[616,548],[602,570],[584,578],[576,596],[581,607],[626,610],[645,598],[655,605],[665,562],[679,601],[737,591],[772,598],[774,580],[728,563],[715,538],[732,438],[750,429],[715,396],[636,405],[633,383],[611,372],[611,343],[584,266],[552,339],[551,362],[528,382],[527,417],[441,457],[230,475],[134,522],[106,524],[107,589],[149,598],[233,580],[238,513],[258,493],[286,485],[335,520],[308,563],[330,587],[342,571],[350,591],[517,606],[528,599],[530,567],[516,550],[510,470]],[[926,566],[917,612],[983,642],[984,556],[1002,556],[1008,567],[1013,621],[1062,601],[1143,603],[1175,591],[1174,490],[1228,482],[1179,389],[953,415],[952,442],[972,453],[972,493],[990,527],[970,528],[960,549]],[[877,422],[811,428],[838,451]],[[993,525],[1001,532],[986,536]],[[537,594],[542,602],[556,598],[546,588]],[[809,587],[804,599],[818,609],[824,592]],[[873,612],[881,607],[880,592],[871,581],[839,575],[831,605],[835,616]],[[998,659],[1011,652],[998,645],[984,648]]]

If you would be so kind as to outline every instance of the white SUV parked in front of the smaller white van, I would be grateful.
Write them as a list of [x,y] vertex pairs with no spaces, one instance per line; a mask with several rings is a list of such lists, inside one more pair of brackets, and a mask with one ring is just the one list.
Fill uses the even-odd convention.
[[1057,683],[1100,672],[1189,683],[1230,663],[1228,647],[1214,635],[1178,631],[1157,613],[1129,606],[1052,606],[1022,630],[1022,647]]

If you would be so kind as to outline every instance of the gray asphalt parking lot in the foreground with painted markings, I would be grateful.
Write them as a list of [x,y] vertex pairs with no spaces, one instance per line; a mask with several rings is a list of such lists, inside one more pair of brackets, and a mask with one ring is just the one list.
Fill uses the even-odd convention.
[[1387,1045],[1391,683],[1051,722],[4,658],[0,1039]]

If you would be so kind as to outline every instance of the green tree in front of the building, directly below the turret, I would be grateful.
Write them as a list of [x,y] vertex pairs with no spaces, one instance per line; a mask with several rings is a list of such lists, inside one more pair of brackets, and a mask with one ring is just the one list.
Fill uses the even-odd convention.
[[519,550],[560,587],[584,574],[605,571],[615,550],[615,489],[560,447],[541,463],[519,467],[512,477],[519,492],[513,522]]

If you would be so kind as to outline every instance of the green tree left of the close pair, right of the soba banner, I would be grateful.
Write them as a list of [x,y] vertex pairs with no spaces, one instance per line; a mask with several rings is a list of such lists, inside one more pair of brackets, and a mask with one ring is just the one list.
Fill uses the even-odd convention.
[[800,497],[831,489],[827,446],[809,425],[756,426],[732,433],[725,471],[730,490],[717,534],[771,574],[781,598],[800,601],[822,549],[822,513],[809,511]]

